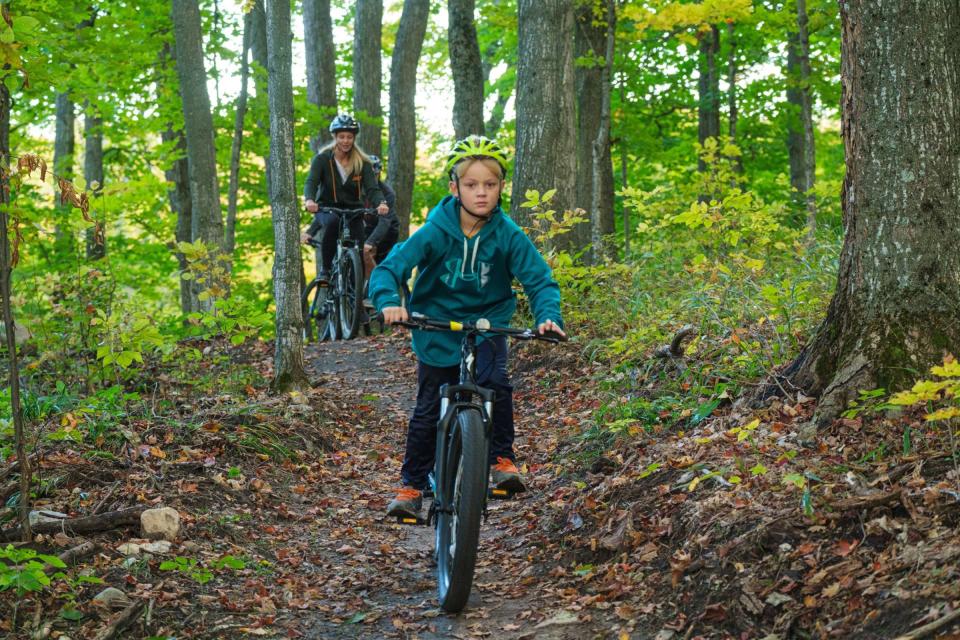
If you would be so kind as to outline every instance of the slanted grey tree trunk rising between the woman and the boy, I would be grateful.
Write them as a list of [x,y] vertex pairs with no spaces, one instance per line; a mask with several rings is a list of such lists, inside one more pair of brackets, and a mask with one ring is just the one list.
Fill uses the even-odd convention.
[[413,170],[417,156],[417,123],[414,101],[417,64],[430,17],[430,0],[405,0],[397,41],[390,63],[390,142],[387,181],[397,193],[395,210],[400,219],[400,239],[410,233],[413,204]]

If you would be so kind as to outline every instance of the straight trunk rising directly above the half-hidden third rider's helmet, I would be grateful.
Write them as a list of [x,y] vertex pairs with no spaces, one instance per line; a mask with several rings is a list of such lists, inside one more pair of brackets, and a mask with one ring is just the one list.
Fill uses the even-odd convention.
[[353,38],[353,108],[360,121],[357,144],[367,153],[383,155],[380,140],[380,67],[383,0],[357,0]]

